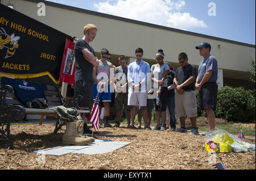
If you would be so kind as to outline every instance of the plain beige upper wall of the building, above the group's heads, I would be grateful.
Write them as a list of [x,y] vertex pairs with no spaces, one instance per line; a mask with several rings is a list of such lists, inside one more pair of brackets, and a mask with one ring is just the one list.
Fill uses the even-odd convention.
[[[11,3],[14,10],[22,12],[42,23],[71,36],[81,38],[82,29],[87,23],[98,27],[96,39],[90,44],[96,52],[108,48],[112,54],[125,54],[134,57],[135,49],[144,50],[144,59],[154,62],[159,48],[164,50],[165,61],[177,65],[180,52],[188,54],[189,63],[198,66],[203,59],[196,45],[207,41],[212,45],[211,54],[217,58],[218,68],[247,72],[251,68],[251,59],[255,58],[255,47],[228,43],[225,41],[188,35],[185,33],[143,26],[103,16],[46,6],[46,16],[38,16],[37,3],[23,0],[2,0],[4,5]],[[221,76],[220,76],[221,77]]]

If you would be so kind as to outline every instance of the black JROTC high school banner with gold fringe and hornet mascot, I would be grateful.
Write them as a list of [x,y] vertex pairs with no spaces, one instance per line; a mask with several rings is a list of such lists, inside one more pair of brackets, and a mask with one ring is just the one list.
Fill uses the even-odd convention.
[[65,39],[72,37],[0,4],[0,76],[48,75],[59,83]]

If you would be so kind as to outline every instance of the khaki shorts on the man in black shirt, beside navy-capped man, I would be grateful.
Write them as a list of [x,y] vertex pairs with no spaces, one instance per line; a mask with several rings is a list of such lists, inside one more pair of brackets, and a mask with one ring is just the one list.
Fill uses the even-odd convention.
[[197,104],[196,104],[196,92],[185,91],[184,94],[175,94],[175,113],[177,117],[196,117],[197,116]]

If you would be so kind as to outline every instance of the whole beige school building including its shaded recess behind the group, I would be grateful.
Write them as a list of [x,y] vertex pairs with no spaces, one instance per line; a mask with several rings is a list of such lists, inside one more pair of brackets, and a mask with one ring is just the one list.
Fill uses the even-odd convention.
[[[150,66],[155,64],[155,53],[163,49],[168,61],[177,69],[177,57],[180,52],[188,54],[189,63],[198,68],[203,57],[195,47],[202,42],[212,46],[211,54],[218,61],[218,85],[233,87],[243,86],[247,89],[255,88],[255,83],[249,81],[251,59],[255,58],[255,45],[238,41],[222,39],[177,30],[175,28],[144,23],[137,20],[121,18],[100,12],[79,9],[77,7],[61,5],[43,0],[0,0],[3,5],[11,6],[22,12],[64,32],[81,39],[85,24],[92,23],[98,28],[96,39],[90,45],[100,58],[102,48],[107,48],[112,54],[112,63],[119,66],[118,56],[124,54],[128,58],[127,64],[135,60],[135,49],[144,50],[143,60]],[[45,16],[38,15],[38,3],[46,5]]]

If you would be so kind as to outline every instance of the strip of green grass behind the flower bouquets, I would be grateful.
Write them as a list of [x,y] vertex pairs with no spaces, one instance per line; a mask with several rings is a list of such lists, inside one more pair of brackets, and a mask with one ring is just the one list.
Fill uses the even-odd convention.
[[[231,134],[238,134],[239,131],[242,129],[243,134],[247,136],[255,136],[255,129],[246,127],[246,125],[243,124],[234,124],[234,123],[228,123],[228,124],[219,124],[215,125],[216,128],[223,129],[226,132],[229,132]],[[205,127],[199,127],[199,131],[209,131],[209,126]]]

